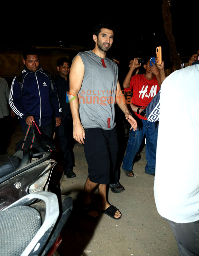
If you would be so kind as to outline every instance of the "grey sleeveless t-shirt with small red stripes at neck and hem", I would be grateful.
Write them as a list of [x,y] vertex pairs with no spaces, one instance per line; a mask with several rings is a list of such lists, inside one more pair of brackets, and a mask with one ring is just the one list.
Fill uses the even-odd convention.
[[115,127],[115,96],[118,67],[109,58],[101,58],[91,50],[78,54],[84,64],[84,78],[79,97],[81,123],[86,128]]

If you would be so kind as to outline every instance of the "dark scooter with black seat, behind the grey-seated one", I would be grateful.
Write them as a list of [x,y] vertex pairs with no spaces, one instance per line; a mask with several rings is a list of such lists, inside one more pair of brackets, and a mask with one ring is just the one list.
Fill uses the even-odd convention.
[[27,194],[47,191],[55,164],[50,152],[30,155],[21,149],[0,156],[0,211]]

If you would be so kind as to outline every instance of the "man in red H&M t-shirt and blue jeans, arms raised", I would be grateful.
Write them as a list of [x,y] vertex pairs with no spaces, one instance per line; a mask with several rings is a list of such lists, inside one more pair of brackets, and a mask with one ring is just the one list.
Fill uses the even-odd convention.
[[[132,111],[137,116],[137,131],[130,132],[129,141],[127,146],[126,155],[123,159],[122,169],[128,177],[133,177],[133,159],[137,154],[139,147],[142,143],[144,135],[146,135],[146,159],[147,165],[145,172],[147,174],[155,175],[155,157],[156,157],[156,144],[158,124],[147,121],[146,117],[140,115],[143,109],[151,102],[152,98],[160,90],[161,85],[161,72],[153,65],[150,66],[150,60],[144,65],[146,73],[143,75],[135,75],[133,71],[140,67],[138,58],[134,58],[129,72],[123,82],[125,91],[133,91],[132,103],[130,104]],[[163,70],[164,71],[164,70]]]

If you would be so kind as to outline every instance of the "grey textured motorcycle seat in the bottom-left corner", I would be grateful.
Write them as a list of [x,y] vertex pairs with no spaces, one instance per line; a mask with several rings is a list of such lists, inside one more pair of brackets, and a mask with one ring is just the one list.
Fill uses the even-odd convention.
[[14,206],[0,212],[1,255],[21,255],[41,226],[40,213],[30,206]]

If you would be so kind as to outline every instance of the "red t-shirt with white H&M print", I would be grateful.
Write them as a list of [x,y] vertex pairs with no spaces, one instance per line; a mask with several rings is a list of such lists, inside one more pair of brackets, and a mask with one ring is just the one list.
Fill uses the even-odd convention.
[[[125,88],[125,91],[128,92],[131,90],[133,92],[132,103],[136,106],[146,108],[151,102],[152,98],[160,90],[157,79],[154,76],[153,79],[148,80],[143,75],[135,75],[131,78],[130,87]],[[147,120],[146,117],[140,116],[135,112],[136,116],[140,119]]]

